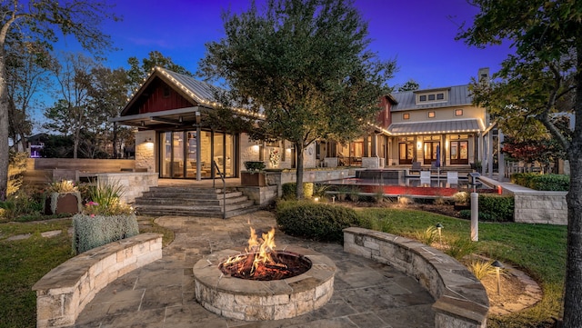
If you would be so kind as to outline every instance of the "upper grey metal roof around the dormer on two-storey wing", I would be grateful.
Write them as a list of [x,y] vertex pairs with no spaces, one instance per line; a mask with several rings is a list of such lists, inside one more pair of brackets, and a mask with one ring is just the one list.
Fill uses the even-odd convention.
[[[440,90],[448,91],[447,101],[426,102],[422,104],[416,104],[416,94]],[[391,110],[392,112],[473,104],[473,96],[469,92],[468,84],[448,86],[436,89],[405,91],[400,93],[393,93],[392,96],[394,97],[394,99],[396,99],[397,102],[397,104],[392,106]]]

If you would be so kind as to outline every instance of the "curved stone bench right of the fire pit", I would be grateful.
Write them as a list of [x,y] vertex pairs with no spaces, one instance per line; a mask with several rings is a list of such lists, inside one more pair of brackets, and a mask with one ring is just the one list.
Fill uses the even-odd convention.
[[437,300],[435,327],[486,327],[489,299],[483,284],[457,260],[437,249],[394,234],[344,230],[344,251],[414,277]]

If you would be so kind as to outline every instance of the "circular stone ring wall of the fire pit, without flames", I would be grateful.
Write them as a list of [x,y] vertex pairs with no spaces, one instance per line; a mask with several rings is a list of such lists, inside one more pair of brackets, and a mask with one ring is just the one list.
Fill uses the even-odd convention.
[[326,255],[298,246],[277,247],[304,255],[312,263],[292,278],[254,281],[224,275],[218,265],[240,251],[224,250],[194,265],[196,301],[206,310],[228,318],[257,321],[292,318],[316,310],[334,293],[336,264]]

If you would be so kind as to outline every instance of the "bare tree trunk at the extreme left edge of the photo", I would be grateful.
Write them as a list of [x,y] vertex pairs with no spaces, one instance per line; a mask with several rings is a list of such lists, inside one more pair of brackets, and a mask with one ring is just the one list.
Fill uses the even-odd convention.
[[8,94],[6,90],[6,68],[4,47],[0,49],[0,201],[6,199],[8,188]]

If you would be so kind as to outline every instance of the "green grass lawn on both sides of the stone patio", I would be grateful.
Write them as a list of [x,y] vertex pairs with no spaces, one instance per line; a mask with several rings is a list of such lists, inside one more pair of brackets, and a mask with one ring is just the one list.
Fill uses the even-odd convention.
[[[358,211],[378,230],[415,237],[437,223],[444,225],[443,243],[468,238],[470,223],[444,215],[416,210],[366,208]],[[33,284],[59,263],[72,257],[68,234],[43,238],[40,233],[66,230],[70,219],[42,223],[0,224],[0,328],[35,327]],[[140,220],[140,231],[165,234],[164,244],[173,234],[160,230],[151,219]],[[559,316],[560,298],[566,267],[566,226],[544,224],[479,224],[479,253],[501,262],[512,263],[532,276],[544,291],[542,302],[523,312],[493,317],[488,327],[549,327]],[[7,241],[11,235],[32,234],[20,241]]]

